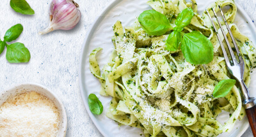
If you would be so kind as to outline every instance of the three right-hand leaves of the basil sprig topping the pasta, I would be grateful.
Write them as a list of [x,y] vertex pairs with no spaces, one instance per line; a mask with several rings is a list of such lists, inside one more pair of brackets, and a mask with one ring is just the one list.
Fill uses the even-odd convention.
[[[191,8],[186,8],[179,13],[175,20],[175,25],[177,26],[174,27],[174,31],[166,40],[166,49],[176,51],[181,48],[186,61],[191,64],[208,64],[213,59],[213,46],[211,41],[198,31],[185,34],[181,32],[183,27],[190,24],[193,16],[194,12]],[[183,34],[183,39],[177,35],[178,32]]]

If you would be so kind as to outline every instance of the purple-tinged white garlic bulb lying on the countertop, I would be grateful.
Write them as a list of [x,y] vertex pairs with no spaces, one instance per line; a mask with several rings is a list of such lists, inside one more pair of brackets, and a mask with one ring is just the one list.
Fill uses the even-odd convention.
[[44,31],[39,32],[39,34],[46,34],[57,29],[73,29],[81,19],[81,12],[78,8],[78,4],[74,1],[52,0],[50,24]]

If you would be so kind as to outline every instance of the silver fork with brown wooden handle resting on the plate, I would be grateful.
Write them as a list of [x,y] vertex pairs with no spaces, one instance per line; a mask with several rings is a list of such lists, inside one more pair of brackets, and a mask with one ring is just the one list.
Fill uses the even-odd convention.
[[249,93],[248,93],[248,88],[246,87],[245,83],[244,83],[244,80],[243,80],[243,75],[244,75],[244,60],[243,60],[243,57],[239,51],[239,48],[237,47],[237,43],[236,43],[236,40],[232,34],[232,32],[230,31],[230,27],[228,26],[228,23],[227,23],[227,20],[223,14],[223,11],[221,10],[221,7],[219,6],[220,8],[220,12],[221,12],[221,15],[222,15],[222,18],[225,22],[225,25],[227,27],[227,30],[228,30],[228,33],[230,34],[230,37],[232,39],[232,42],[234,43],[234,47],[236,48],[236,54],[237,54],[237,58],[239,61],[237,61],[236,59],[236,55],[234,54],[233,50],[232,50],[232,47],[230,46],[230,43],[228,42],[228,38],[225,34],[225,32],[223,31],[223,27],[220,23],[220,20],[218,19],[217,17],[217,14],[216,12],[211,8],[211,10],[213,11],[214,13],[214,17],[217,19],[218,21],[218,24],[220,25],[220,29],[221,29],[221,32],[223,33],[223,36],[225,38],[225,41],[227,43],[227,47],[228,47],[228,50],[230,52],[230,56],[231,56],[231,61],[228,59],[228,55],[227,55],[227,52],[225,50],[225,47],[221,41],[221,38],[220,38],[220,35],[218,34],[218,30],[216,29],[216,26],[211,18],[211,15],[209,14],[209,11],[205,10],[209,16],[209,18],[211,19],[211,22],[212,22],[212,26],[214,27],[214,30],[217,34],[217,37],[218,37],[218,40],[220,41],[220,45],[221,45],[221,49],[223,51],[223,55],[224,55],[224,58],[225,58],[225,62],[227,64],[227,69],[229,71],[229,73],[234,77],[236,78],[236,80],[239,82],[239,85],[241,87],[241,98],[242,98],[242,101],[243,101],[243,105],[244,105],[244,108],[246,109],[246,115],[248,117],[248,120],[250,122],[250,126],[252,128],[252,131],[253,131],[253,136],[256,136],[256,106],[255,106],[255,103],[253,102],[255,100],[254,97],[250,97],[249,96]]

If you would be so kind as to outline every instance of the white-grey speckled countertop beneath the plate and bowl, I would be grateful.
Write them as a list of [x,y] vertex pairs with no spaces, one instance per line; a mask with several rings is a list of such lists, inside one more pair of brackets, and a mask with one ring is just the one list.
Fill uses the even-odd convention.
[[[113,0],[76,0],[82,18],[71,31],[54,31],[38,35],[49,23],[51,0],[27,0],[35,15],[21,15],[10,8],[10,0],[0,4],[0,38],[15,24],[22,24],[24,31],[18,38],[31,52],[27,64],[10,64],[5,59],[6,50],[0,55],[0,92],[17,83],[40,83],[55,92],[63,101],[67,116],[67,136],[102,136],[85,110],[79,90],[79,61],[83,41],[88,30],[102,10]],[[236,0],[256,21],[256,0]],[[254,22],[256,25],[256,23]],[[255,43],[256,44],[256,43]],[[248,129],[243,136],[253,136]]]

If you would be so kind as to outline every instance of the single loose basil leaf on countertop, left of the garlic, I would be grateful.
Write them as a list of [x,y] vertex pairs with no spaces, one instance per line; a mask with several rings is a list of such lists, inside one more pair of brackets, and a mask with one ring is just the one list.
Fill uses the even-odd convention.
[[24,15],[33,15],[35,11],[29,6],[25,0],[11,0],[10,6],[16,12],[22,13]]

